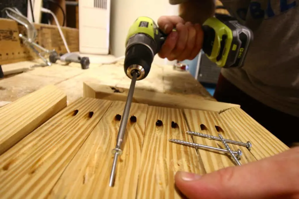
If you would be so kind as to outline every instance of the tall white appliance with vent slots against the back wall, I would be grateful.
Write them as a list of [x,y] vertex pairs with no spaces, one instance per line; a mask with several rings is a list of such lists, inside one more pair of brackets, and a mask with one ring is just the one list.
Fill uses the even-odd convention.
[[109,54],[110,0],[79,0],[79,51]]

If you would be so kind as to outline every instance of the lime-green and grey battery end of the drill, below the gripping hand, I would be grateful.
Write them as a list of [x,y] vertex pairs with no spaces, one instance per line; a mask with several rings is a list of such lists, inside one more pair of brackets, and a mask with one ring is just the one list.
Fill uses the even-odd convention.
[[216,65],[223,68],[242,67],[253,41],[253,33],[237,21],[223,14],[208,18],[202,26],[202,50]]

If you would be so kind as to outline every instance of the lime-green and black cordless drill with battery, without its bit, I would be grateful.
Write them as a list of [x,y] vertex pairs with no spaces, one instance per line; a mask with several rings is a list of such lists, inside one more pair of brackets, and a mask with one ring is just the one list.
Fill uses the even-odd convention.
[[[227,15],[217,14],[202,24],[204,32],[202,50],[218,67],[242,67],[253,40],[252,31]],[[160,51],[167,34],[149,17],[138,17],[126,38],[124,71],[132,79],[147,77],[154,56]]]

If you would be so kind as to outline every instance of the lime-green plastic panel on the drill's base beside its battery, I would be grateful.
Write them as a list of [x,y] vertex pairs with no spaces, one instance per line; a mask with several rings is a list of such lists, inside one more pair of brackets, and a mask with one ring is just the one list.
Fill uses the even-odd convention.
[[214,63],[216,63],[219,67],[225,66],[229,50],[225,50],[225,52],[222,55],[222,58],[217,61],[217,56],[220,50],[220,42],[222,40],[222,36],[226,35],[226,43],[225,43],[225,49],[231,49],[231,44],[233,41],[233,33],[229,27],[227,27],[222,21],[217,19],[216,17],[210,17],[208,18],[203,25],[210,26],[215,31],[215,40],[213,42],[213,50],[210,56],[207,55],[207,57]]

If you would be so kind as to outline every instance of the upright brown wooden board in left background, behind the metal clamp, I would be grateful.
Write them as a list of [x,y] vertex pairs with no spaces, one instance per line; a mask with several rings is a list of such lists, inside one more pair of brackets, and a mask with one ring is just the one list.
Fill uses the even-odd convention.
[[[36,43],[57,53],[67,53],[55,25],[34,24],[37,36]],[[26,35],[24,26],[11,19],[0,18],[0,65],[28,61],[38,56],[19,38],[19,33]],[[75,28],[61,27],[71,52],[79,51],[79,31]]]

